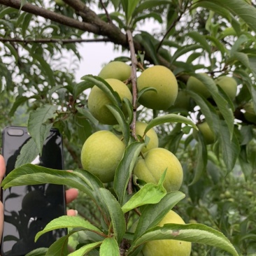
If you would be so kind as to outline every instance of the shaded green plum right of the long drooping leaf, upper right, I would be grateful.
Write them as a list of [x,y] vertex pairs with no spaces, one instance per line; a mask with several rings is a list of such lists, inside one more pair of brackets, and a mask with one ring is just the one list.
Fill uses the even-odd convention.
[[234,78],[230,78],[229,76],[220,76],[215,79],[215,83],[220,85],[222,90],[231,100],[236,97],[237,83]]

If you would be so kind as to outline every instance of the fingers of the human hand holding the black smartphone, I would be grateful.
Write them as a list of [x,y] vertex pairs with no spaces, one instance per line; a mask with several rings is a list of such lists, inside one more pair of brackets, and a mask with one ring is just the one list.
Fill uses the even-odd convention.
[[[6,164],[4,162],[3,156],[0,155],[0,183],[1,180],[3,180],[3,177],[6,173]],[[78,190],[75,188],[70,188],[69,190],[66,190],[66,204],[71,203],[74,199],[78,197]],[[76,216],[77,211],[70,209],[66,212],[69,216]],[[1,235],[3,233],[3,203],[0,201],[0,239]]]

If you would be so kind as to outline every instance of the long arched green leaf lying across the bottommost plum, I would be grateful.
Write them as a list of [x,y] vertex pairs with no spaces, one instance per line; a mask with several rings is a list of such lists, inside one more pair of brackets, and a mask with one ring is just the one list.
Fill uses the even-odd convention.
[[148,241],[162,239],[206,244],[225,250],[234,256],[239,256],[232,243],[230,243],[224,234],[203,224],[165,224],[163,227],[154,227],[136,239],[130,250]]

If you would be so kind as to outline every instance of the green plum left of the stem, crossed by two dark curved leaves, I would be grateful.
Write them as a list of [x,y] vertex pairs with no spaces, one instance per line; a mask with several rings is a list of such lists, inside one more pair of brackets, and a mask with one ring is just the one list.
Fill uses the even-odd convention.
[[[121,100],[127,98],[129,101],[132,101],[131,92],[125,83],[122,83],[122,81],[113,78],[106,79],[106,82],[111,85],[115,92],[118,92]],[[118,121],[115,119],[115,116],[111,113],[111,111],[106,107],[106,104],[112,104],[111,99],[107,97],[104,91],[94,85],[88,97],[89,111],[92,113],[94,118],[101,122],[101,124],[118,124]],[[125,110],[126,108],[123,106],[124,113],[126,113]]]

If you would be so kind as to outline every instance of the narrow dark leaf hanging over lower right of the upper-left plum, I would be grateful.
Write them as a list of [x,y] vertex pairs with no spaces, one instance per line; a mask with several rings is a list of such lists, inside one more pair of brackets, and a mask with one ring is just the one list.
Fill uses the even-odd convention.
[[111,111],[111,113],[115,116],[115,119],[118,120],[118,124],[120,125],[120,129],[124,136],[125,145],[128,144],[130,138],[130,128],[128,122],[125,120],[125,115],[118,106],[115,105],[106,105],[106,107]]

